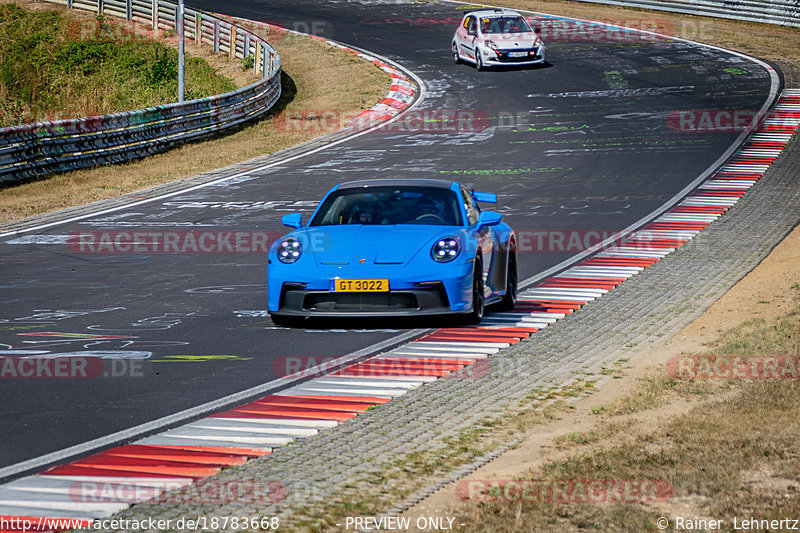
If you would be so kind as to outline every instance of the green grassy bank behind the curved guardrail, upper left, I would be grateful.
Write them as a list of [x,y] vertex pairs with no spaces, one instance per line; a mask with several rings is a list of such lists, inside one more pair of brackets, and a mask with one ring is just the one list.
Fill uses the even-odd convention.
[[[0,126],[174,102],[178,54],[114,19],[0,4]],[[187,99],[234,90],[205,60],[187,58]]]

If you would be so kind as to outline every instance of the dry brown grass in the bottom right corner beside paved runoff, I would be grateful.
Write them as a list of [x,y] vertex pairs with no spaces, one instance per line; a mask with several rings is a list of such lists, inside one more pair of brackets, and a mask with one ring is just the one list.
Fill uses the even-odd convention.
[[[800,356],[800,307],[724,332],[704,356]],[[695,396],[687,414],[653,424],[640,413]],[[659,516],[725,520],[800,517],[800,394],[796,380],[709,381],[652,375],[630,395],[598,410],[586,433],[557,442],[566,459],[519,479],[659,480],[674,495],[660,503],[512,501],[465,506],[466,531],[655,531]],[[652,418],[652,417],[650,417]],[[670,529],[671,530],[671,529]],[[780,530],[780,528],[778,528]]]

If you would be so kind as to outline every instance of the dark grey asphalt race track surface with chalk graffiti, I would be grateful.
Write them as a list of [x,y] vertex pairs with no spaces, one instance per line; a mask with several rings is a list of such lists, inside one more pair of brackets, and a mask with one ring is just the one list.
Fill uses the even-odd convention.
[[[261,253],[87,253],[68,246],[66,236],[274,237],[283,232],[283,214],[307,214],[339,182],[454,179],[498,193],[505,220],[527,235],[524,279],[580,251],[560,247],[570,239],[618,231],[659,208],[739,138],[731,131],[680,131],[669,120],[674,112],[754,110],[770,93],[768,71],[747,58],[547,17],[537,17],[551,37],[546,66],[478,72],[450,56],[463,12],[457,4],[188,4],[383,55],[425,82],[415,117],[435,120],[446,112],[477,120],[455,128],[400,121],[242,179],[3,239],[0,355],[101,356],[108,359],[105,371],[118,376],[0,379],[0,467],[268,382],[281,374],[280,358],[337,357],[410,327],[438,325],[274,328],[265,314]],[[536,232],[543,231],[548,238],[540,240]]]

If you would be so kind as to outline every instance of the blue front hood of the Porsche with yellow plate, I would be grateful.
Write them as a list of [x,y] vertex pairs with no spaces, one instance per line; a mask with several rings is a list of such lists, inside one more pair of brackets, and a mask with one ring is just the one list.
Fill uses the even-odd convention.
[[301,231],[318,265],[406,265],[418,253],[427,253],[433,241],[457,235],[450,226],[327,226]]

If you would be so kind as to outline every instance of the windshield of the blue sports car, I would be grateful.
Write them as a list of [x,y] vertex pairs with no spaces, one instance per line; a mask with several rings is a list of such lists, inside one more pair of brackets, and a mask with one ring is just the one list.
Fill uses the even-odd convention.
[[461,226],[458,198],[450,189],[400,186],[334,191],[310,226],[339,224],[435,224]]

